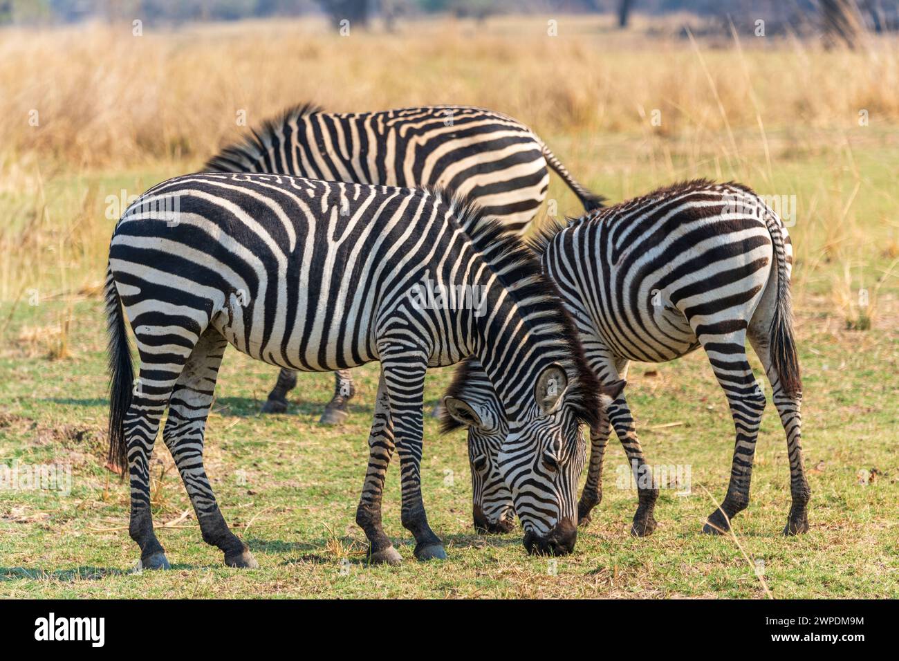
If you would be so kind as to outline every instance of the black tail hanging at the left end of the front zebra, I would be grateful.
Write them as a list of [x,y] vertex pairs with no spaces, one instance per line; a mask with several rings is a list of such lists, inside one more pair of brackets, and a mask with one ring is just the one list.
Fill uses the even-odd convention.
[[131,406],[131,384],[134,380],[134,367],[131,364],[131,351],[128,344],[128,333],[125,328],[125,315],[122,312],[119,290],[116,289],[112,277],[111,266],[106,270],[106,326],[109,331],[110,371],[110,451],[109,462],[118,468],[124,478],[128,469],[128,447],[125,443],[125,416]]

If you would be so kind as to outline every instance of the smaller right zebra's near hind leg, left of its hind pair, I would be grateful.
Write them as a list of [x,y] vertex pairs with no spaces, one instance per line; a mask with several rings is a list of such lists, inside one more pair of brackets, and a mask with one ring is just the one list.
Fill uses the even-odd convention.
[[745,330],[720,335],[699,332],[697,335],[708,354],[715,377],[725,391],[736,431],[727,495],[721,506],[708,516],[708,522],[702,528],[703,532],[718,534],[730,530],[730,519],[749,505],[752,459],[759,436],[761,413],[765,408],[765,395],[746,359]]

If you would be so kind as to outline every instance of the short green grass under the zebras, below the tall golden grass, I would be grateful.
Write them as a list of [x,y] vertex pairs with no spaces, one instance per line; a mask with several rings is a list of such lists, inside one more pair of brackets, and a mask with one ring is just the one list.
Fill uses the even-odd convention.
[[[805,215],[790,232],[797,246],[795,308],[805,380],[811,531],[792,539],[780,534],[789,508],[788,461],[773,406],[761,427],[752,502],[734,519],[734,531],[748,558],[763,560],[763,576],[776,598],[899,596],[899,279],[889,272],[899,210],[895,135],[854,145],[851,155],[848,147],[809,147],[813,140],[777,147],[772,138],[770,174],[751,168],[742,173],[739,164],[725,165],[719,173],[717,156],[696,160],[677,149],[671,164],[656,170],[645,151],[631,154],[623,147],[628,139],[597,145],[556,137],[552,144],[573,172],[594,173],[583,182],[612,200],[693,175],[737,178],[760,192],[797,194]],[[664,148],[656,145],[650,151],[659,156]],[[597,164],[589,160],[591,153],[610,156]],[[756,156],[745,156],[741,163],[763,162]],[[227,522],[249,544],[261,568],[224,567],[218,549],[201,540],[192,512],[165,527],[191,506],[160,441],[152,470],[154,516],[174,568],[130,573],[138,548],[127,531],[128,491],[104,468],[108,405],[102,304],[96,290],[76,292],[85,283],[102,281],[102,244],[112,225],[102,221],[103,197],[121,187],[138,192],[187,169],[188,164],[168,164],[143,172],[48,177],[49,219],[41,231],[75,213],[93,185],[96,200],[88,214],[95,220],[85,226],[93,234],[79,244],[81,254],[72,250],[65,259],[50,255],[46,263],[28,264],[28,277],[15,281],[0,302],[0,463],[70,467],[72,488],[67,496],[0,490],[0,595],[765,596],[732,538],[699,532],[715,507],[703,487],[718,499],[724,496],[734,448],[725,397],[701,353],[658,366],[636,364],[628,375],[628,398],[650,464],[686,464],[691,471],[690,496],[663,490],[656,508],[660,524],[652,537],[628,535],[636,492],[616,487],[625,457],[614,437],[604,500],[590,527],[581,531],[573,555],[553,563],[529,557],[519,532],[476,535],[465,437],[439,435],[429,417],[424,502],[449,558],[414,560],[412,537],[399,522],[394,466],[387,478],[384,523],[405,562],[369,567],[354,517],[377,365],[354,371],[358,394],[352,415],[347,424],[328,428],[316,420],[330,397],[330,375],[301,375],[288,413],[261,416],[257,411],[276,371],[230,350],[210,417],[206,466]],[[0,207],[13,211],[10,227],[24,227],[30,198],[2,194]],[[553,196],[562,212],[574,210],[570,193],[555,177]],[[45,234],[36,240],[52,246],[54,235]],[[42,292],[37,306],[29,305],[27,295],[16,302],[19,284],[29,281]],[[858,310],[842,307],[841,299],[851,299],[859,287],[870,288],[874,297],[877,282],[872,327],[847,330]],[[67,330],[60,331],[67,319]],[[753,365],[758,369],[754,357]],[[426,406],[437,401],[451,373],[432,372]],[[873,476],[868,484],[859,471]]]

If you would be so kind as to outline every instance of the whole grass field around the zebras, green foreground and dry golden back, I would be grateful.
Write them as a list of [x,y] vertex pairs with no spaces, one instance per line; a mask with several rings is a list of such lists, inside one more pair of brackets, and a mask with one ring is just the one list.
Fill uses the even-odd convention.
[[[899,596],[899,46],[823,51],[744,38],[742,50],[733,43],[712,49],[703,41],[614,35],[603,23],[579,23],[567,37],[565,25],[574,23],[565,22],[547,43],[546,19],[536,21],[426,23],[358,40],[305,23],[241,32],[219,26],[148,33],[136,49],[109,27],[89,28],[91,40],[77,31],[0,32],[0,87],[12,93],[0,107],[5,117],[23,118],[22,126],[0,127],[0,464],[54,465],[71,476],[69,493],[0,488],[0,595]],[[297,34],[303,38],[290,39]],[[371,52],[374,43],[383,48]],[[311,62],[298,67],[309,76],[281,84],[285,71],[265,66],[279,46],[292,49],[290,61]],[[401,56],[417,63],[416,76],[389,66]],[[34,76],[13,75],[17,66]],[[254,67],[263,74],[252,76]],[[167,95],[165,76],[174,76]],[[352,76],[356,84],[331,85],[328,76]],[[541,80],[552,81],[549,89]],[[529,557],[520,531],[476,535],[464,435],[440,436],[429,418],[424,502],[449,558],[414,560],[412,537],[399,523],[395,469],[385,529],[405,563],[369,567],[354,515],[377,365],[356,372],[347,424],[322,427],[316,420],[330,396],[329,376],[302,375],[288,413],[263,417],[257,411],[275,371],[230,351],[206,465],[227,522],[261,568],[224,567],[218,549],[203,543],[160,441],[154,515],[174,568],[132,573],[138,549],[127,531],[128,490],[104,468],[99,286],[114,225],[107,210],[122,191],[137,194],[197,168],[245,130],[233,121],[242,104],[253,124],[308,99],[336,110],[452,101],[509,112],[534,125],[584,184],[611,201],[693,176],[737,179],[795,200],[790,234],[811,531],[780,535],[788,463],[769,406],[752,502],[734,519],[736,540],[699,533],[715,507],[711,498],[724,496],[734,441],[725,397],[697,353],[636,364],[628,377],[649,463],[690,466],[690,495],[663,490],[652,537],[628,535],[636,491],[616,485],[625,459],[614,438],[604,500],[573,555]],[[28,126],[32,107],[47,109],[43,129]],[[651,121],[654,109],[661,126]],[[861,110],[868,123],[859,123]],[[578,211],[555,177],[549,197],[562,213]],[[450,369],[432,372],[427,406],[450,377]]]

